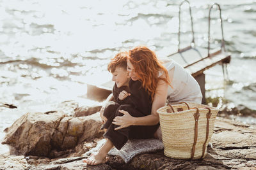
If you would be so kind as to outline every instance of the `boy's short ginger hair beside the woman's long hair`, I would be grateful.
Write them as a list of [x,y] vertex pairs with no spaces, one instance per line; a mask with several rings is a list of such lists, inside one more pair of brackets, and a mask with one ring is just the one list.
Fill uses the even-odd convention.
[[129,56],[128,52],[119,52],[115,55],[111,62],[108,64],[108,71],[114,73],[116,67],[122,67],[126,70],[127,67],[127,57]]

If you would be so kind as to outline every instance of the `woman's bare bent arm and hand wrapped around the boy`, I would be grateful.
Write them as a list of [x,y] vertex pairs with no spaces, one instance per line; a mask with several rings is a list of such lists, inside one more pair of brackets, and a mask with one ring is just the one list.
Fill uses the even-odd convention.
[[157,83],[156,92],[152,103],[152,111],[150,115],[145,117],[132,117],[127,111],[120,110],[124,113],[122,117],[115,117],[113,124],[120,125],[116,130],[130,125],[156,125],[159,122],[159,115],[156,112],[159,108],[163,107],[166,103],[168,91],[168,83],[163,80],[159,80]]

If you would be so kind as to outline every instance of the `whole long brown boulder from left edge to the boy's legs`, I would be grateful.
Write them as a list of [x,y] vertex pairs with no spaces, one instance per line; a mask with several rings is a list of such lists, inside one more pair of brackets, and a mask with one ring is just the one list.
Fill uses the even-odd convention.
[[6,129],[3,144],[10,145],[11,155],[60,156],[67,154],[60,151],[102,134],[101,125],[99,113],[78,118],[59,112],[26,113]]

